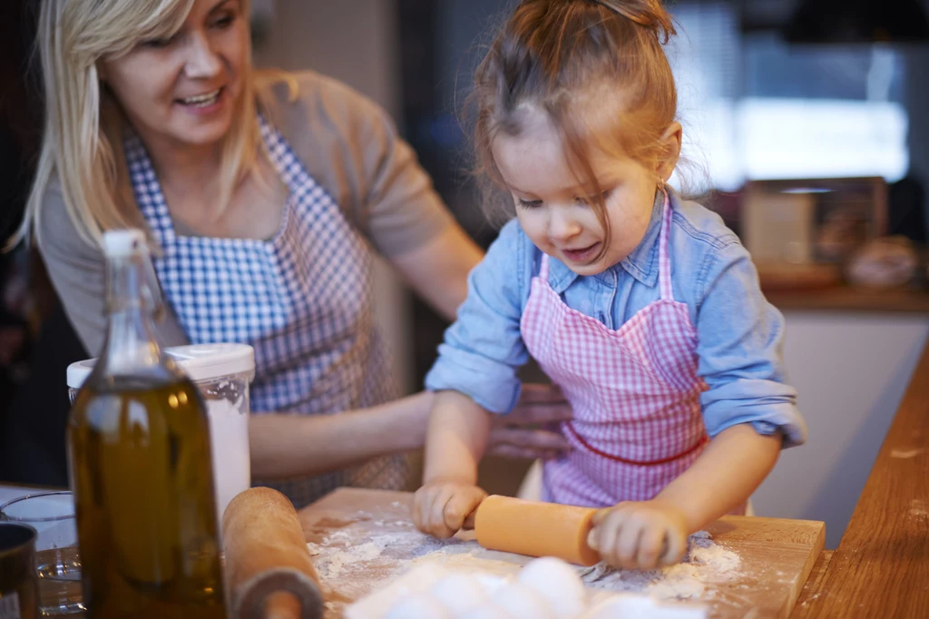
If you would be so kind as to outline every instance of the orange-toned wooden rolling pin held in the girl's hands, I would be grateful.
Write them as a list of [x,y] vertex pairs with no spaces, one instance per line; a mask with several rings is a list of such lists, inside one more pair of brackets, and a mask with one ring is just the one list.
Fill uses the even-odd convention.
[[595,513],[586,507],[491,495],[476,510],[474,528],[478,544],[489,550],[594,565],[600,556],[587,545],[587,535]]

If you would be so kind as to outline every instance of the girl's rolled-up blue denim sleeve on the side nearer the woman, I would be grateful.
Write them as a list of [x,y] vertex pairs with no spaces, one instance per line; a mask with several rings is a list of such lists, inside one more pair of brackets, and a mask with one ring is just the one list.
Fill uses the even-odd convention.
[[438,360],[425,377],[430,391],[454,390],[495,414],[519,398],[518,368],[528,359],[519,333],[527,283],[525,237],[511,221],[468,276],[468,295],[445,332]]

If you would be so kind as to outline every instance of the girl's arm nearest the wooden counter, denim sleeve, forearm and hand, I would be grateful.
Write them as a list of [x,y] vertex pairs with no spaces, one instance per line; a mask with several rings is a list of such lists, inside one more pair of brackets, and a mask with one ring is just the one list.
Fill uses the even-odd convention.
[[693,295],[685,294],[687,305],[696,308],[699,373],[708,387],[700,396],[703,421],[714,438],[654,500],[597,515],[592,545],[623,568],[681,560],[687,534],[743,504],[774,468],[779,450],[805,441],[797,393],[780,356],[783,316],[766,301],[735,235],[721,229],[714,236],[700,277],[685,286]]

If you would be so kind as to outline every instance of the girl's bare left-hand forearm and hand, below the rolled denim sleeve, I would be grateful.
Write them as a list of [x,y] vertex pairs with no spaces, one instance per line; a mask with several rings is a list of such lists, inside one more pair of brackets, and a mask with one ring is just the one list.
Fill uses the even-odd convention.
[[429,420],[424,485],[412,518],[425,533],[451,537],[487,495],[478,488],[478,463],[487,449],[491,415],[467,396],[441,391]]

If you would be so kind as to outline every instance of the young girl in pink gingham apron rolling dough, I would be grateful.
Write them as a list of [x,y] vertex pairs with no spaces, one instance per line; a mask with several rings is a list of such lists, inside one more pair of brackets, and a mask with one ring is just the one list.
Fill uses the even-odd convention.
[[719,217],[666,185],[677,164],[674,34],[658,0],[523,0],[478,68],[482,169],[516,220],[471,273],[426,377],[438,391],[413,517],[458,531],[491,415],[531,355],[574,408],[543,498],[603,507],[609,563],[679,561],[805,441],[784,322]]

